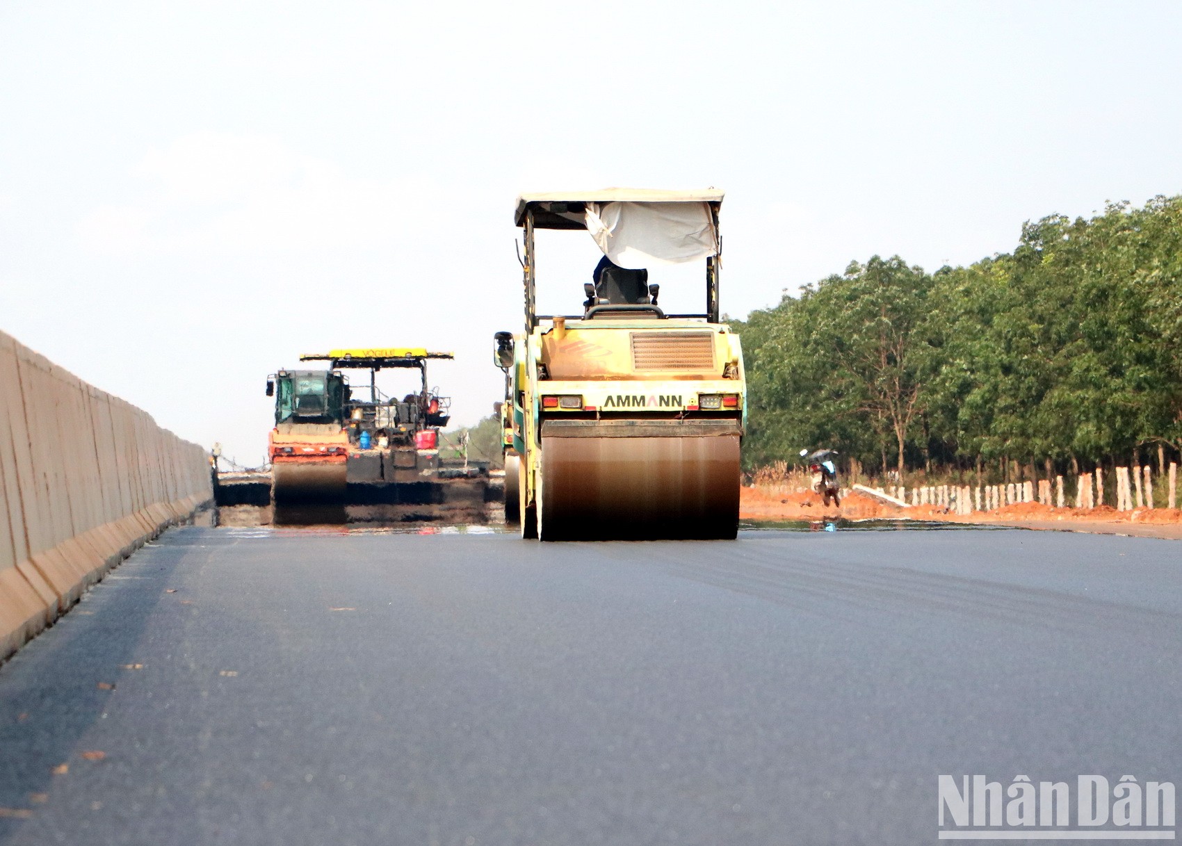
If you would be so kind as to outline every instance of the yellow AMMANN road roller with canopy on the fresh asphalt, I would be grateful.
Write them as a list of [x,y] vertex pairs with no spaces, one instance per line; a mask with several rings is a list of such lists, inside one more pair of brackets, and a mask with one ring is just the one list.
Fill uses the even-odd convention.
[[[714,189],[518,197],[525,328],[498,332],[494,358],[522,538],[735,536],[747,403],[739,337],[719,312],[721,204]],[[548,229],[598,248],[582,313],[537,312],[535,241]],[[669,269],[689,262],[704,308],[667,313],[660,280],[701,279]]]

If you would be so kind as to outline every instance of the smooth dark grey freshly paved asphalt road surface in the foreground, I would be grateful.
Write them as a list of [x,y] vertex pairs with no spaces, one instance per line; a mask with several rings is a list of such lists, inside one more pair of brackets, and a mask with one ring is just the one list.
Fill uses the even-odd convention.
[[0,842],[936,842],[1182,783],[1180,644],[1176,541],[177,529],[0,668]]

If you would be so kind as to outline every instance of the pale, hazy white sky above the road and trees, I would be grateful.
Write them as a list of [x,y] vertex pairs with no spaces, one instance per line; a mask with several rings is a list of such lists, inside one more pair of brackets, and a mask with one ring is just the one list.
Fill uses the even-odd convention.
[[242,464],[303,352],[454,351],[470,424],[518,194],[723,189],[736,317],[969,263],[1182,193],[1180,37],[1174,2],[0,0],[0,331]]

